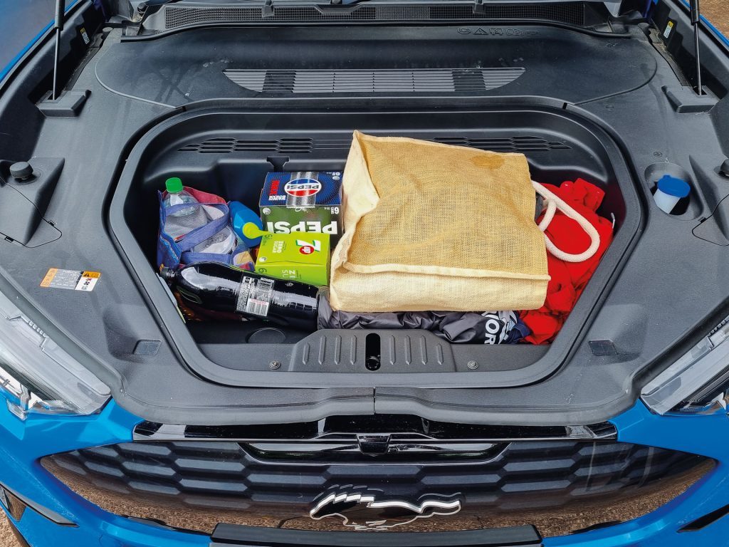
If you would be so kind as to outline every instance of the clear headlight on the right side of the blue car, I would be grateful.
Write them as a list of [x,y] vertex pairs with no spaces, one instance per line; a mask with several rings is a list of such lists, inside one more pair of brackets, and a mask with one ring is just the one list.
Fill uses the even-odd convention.
[[726,408],[729,389],[729,317],[647,384],[643,402],[655,413]]

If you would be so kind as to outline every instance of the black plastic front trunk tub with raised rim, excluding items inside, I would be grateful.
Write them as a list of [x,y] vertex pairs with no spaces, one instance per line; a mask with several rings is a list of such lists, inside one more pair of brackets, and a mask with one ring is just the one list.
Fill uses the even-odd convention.
[[[605,190],[598,213],[615,220],[615,240],[551,346],[448,344],[426,330],[311,333],[256,320],[182,321],[155,275],[157,191],[165,179],[181,176],[190,187],[257,210],[268,171],[343,170],[354,129],[522,152],[538,182],[559,185],[583,177]],[[208,109],[173,117],[139,141],[122,172],[111,215],[112,230],[152,306],[187,365],[208,379],[248,386],[503,387],[539,380],[558,368],[617,271],[639,225],[640,207],[612,139],[564,110],[321,115]],[[368,360],[380,355],[380,368],[370,371]]]

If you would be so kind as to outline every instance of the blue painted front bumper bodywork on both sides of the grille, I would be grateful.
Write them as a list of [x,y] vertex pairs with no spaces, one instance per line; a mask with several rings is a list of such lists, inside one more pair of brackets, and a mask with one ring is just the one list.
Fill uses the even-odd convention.
[[[128,547],[208,545],[210,538],[206,535],[143,524],[102,511],[39,465],[39,458],[48,454],[130,441],[140,421],[113,401],[96,416],[29,416],[27,422],[10,414],[5,405],[0,406],[0,461],[5,463],[0,468],[0,483],[77,524],[60,526],[28,508],[15,526],[32,546],[77,547],[97,542]],[[727,415],[657,416],[637,403],[612,423],[618,441],[701,454],[716,459],[717,466],[685,494],[646,516],[589,532],[546,538],[545,547],[726,545],[727,517],[695,532],[678,530],[729,504]]]

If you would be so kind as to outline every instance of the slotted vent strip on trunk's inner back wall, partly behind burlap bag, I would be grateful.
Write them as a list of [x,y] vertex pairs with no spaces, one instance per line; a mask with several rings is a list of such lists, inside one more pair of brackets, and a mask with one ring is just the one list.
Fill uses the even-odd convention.
[[[503,139],[469,139],[466,137],[434,137],[429,139],[444,144],[461,147],[491,150],[493,152],[547,152],[549,150],[569,150],[562,142],[550,142],[538,136],[512,136]],[[230,152],[284,152],[286,154],[309,154],[314,150],[348,150],[351,139],[233,139],[217,137],[200,143],[185,144],[180,152],[200,152],[202,154],[228,154]]]

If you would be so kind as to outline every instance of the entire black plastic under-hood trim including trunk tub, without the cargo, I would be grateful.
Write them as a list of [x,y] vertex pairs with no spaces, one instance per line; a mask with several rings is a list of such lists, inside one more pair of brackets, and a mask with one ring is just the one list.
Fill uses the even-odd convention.
[[[27,128],[0,132],[0,292],[136,416],[598,424],[726,317],[729,65],[706,39],[711,94],[695,96],[679,9],[659,3],[646,21],[582,2],[276,0],[271,18],[267,4],[183,0],[149,28],[94,34],[80,4],[59,80],[75,110],[38,102],[50,42],[46,64],[0,97],[0,125]],[[269,171],[343,169],[354,130],[522,152],[537,182],[582,177],[605,191],[598,214],[615,218],[615,237],[553,344],[182,320],[155,273],[165,179],[256,209]],[[39,172],[30,184],[9,174],[22,160]],[[666,174],[691,187],[673,214],[652,198]],[[58,290],[42,286],[49,269],[101,276],[93,291]]]

